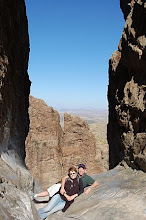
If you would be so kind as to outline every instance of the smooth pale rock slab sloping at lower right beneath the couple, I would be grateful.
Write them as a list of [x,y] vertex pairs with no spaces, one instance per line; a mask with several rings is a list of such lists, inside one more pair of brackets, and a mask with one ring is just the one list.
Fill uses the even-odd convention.
[[[46,220],[145,220],[146,174],[117,166],[95,175],[99,186],[75,199],[69,209]],[[38,204],[37,204],[38,207]]]

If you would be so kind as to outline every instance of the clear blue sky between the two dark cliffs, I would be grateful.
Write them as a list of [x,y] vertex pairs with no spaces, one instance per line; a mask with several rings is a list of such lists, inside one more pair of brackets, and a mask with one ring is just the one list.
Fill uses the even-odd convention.
[[108,63],[125,24],[120,0],[25,3],[31,95],[55,109],[108,109]]

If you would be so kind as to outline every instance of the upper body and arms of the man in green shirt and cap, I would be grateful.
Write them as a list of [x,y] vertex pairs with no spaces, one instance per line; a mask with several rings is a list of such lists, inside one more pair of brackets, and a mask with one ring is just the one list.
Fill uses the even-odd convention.
[[[97,181],[95,181],[91,176],[88,176],[86,174],[86,166],[85,164],[79,164],[78,165],[78,176],[79,178],[81,178],[82,182],[83,182],[83,188],[86,188],[88,187],[86,190],[85,190],[85,194],[87,195],[94,187],[98,186],[98,183]],[[65,181],[66,181],[66,178],[68,177],[65,176],[62,178],[62,181],[61,181],[61,189],[60,189],[60,193],[63,194],[65,192],[64,190],[64,184],[65,184]]]

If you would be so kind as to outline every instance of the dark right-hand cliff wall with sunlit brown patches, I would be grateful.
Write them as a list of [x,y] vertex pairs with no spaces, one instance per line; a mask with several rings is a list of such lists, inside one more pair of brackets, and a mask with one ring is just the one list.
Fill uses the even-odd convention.
[[126,24],[109,61],[110,168],[124,159],[146,172],[146,3],[120,2]]

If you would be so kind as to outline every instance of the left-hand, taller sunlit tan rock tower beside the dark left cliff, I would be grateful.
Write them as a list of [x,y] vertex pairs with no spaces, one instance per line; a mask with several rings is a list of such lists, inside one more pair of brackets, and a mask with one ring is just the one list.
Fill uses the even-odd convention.
[[30,96],[30,128],[26,139],[26,165],[46,189],[62,174],[60,116],[41,99]]

